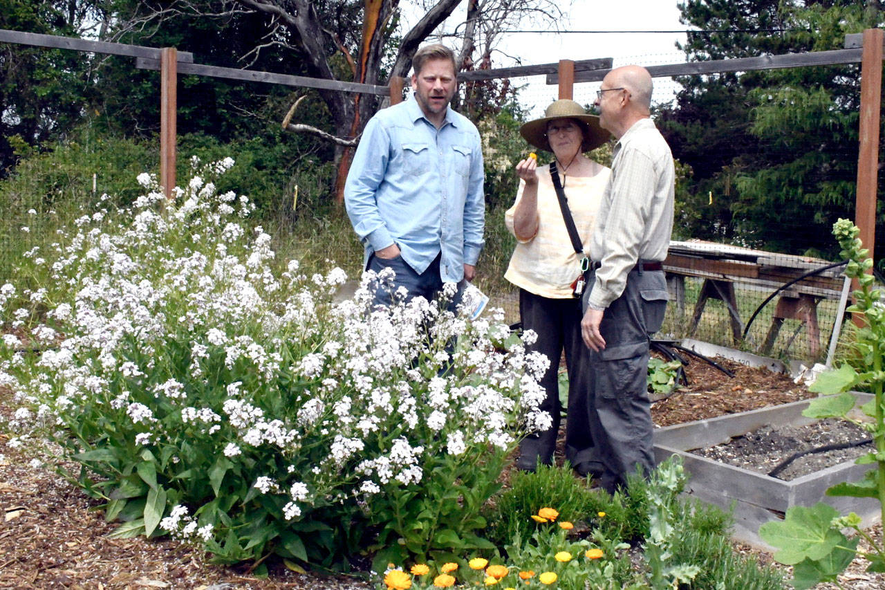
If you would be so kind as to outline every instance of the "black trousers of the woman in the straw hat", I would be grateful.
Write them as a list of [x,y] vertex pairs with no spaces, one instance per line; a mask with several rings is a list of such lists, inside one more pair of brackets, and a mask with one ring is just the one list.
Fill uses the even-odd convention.
[[520,469],[533,469],[540,460],[545,464],[553,461],[559,431],[562,404],[559,401],[558,369],[563,350],[566,351],[568,370],[568,412],[566,416],[566,459],[573,465],[578,456],[589,455],[593,446],[590,436],[589,408],[587,401],[588,353],[581,340],[581,300],[550,299],[519,290],[519,317],[523,330],[534,330],[538,339],[529,350],[550,359],[550,367],[541,380],[547,397],[541,409],[553,419],[550,430],[523,439],[519,445]]

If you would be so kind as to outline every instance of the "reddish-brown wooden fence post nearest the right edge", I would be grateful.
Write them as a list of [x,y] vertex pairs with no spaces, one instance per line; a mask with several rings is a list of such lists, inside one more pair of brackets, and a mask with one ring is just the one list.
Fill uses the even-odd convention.
[[[870,256],[876,242],[876,190],[879,172],[879,121],[882,92],[882,30],[864,31],[864,53],[860,66],[860,129],[858,149],[858,192],[855,198],[854,223],[860,240]],[[855,281],[854,288],[858,288]],[[864,324],[858,315],[856,325]]]

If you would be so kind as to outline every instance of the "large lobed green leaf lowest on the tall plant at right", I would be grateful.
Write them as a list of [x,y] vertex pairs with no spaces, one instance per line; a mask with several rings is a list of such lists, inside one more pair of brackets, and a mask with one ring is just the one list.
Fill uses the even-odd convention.
[[819,560],[829,555],[836,545],[847,542],[845,535],[830,527],[839,513],[835,508],[818,502],[811,508],[794,506],[786,518],[759,527],[759,536],[773,547],[778,547],[774,559],[786,565],[795,565],[808,558]]

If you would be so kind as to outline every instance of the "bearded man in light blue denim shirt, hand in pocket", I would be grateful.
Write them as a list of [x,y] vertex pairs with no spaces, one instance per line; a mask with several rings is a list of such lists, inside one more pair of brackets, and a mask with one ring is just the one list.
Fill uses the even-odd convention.
[[[366,124],[344,185],[366,268],[392,268],[395,289],[434,299],[443,283],[473,279],[485,199],[480,134],[451,110],[455,57],[427,45],[412,58],[413,96]],[[379,289],[378,303],[390,292]]]

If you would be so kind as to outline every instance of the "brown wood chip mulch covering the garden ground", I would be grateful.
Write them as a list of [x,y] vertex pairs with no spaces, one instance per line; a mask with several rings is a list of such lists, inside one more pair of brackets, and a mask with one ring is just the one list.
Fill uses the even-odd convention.
[[[788,403],[812,397],[802,384],[766,369],[750,369],[717,359],[735,371],[728,378],[702,361],[689,366],[689,386],[656,402],[658,426]],[[9,392],[0,392],[0,414],[9,417]],[[2,427],[0,427],[2,428]],[[199,551],[161,539],[112,540],[116,524],[104,522],[90,500],[53,470],[32,465],[34,455],[6,446],[10,435],[0,431],[0,588],[304,588],[345,590],[370,588],[364,581],[319,573],[306,575],[273,564],[269,578],[245,568],[207,563]],[[881,539],[881,525],[871,534]],[[771,556],[735,544],[735,551],[770,563]],[[859,561],[840,577],[841,587],[869,590],[885,587],[881,574],[867,574]],[[820,585],[819,588],[835,588]]]

